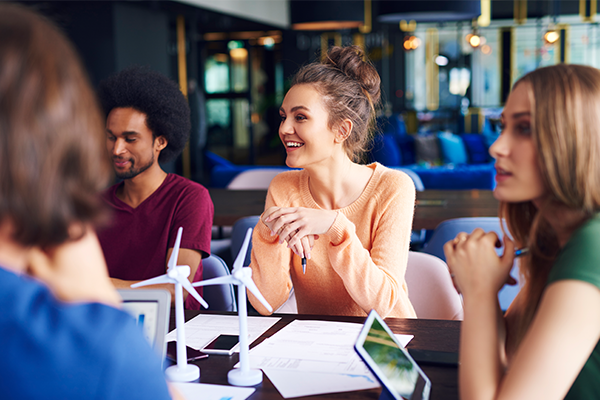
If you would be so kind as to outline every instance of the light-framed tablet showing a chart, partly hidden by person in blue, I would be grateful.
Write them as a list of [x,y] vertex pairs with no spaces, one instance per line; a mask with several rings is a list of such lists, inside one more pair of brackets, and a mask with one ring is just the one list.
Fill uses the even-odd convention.
[[161,360],[165,359],[171,293],[162,289],[119,289],[123,310],[131,314]]

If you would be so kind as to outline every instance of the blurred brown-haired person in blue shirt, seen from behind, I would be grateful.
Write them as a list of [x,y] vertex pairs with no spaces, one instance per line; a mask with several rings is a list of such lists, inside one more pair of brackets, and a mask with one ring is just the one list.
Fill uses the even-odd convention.
[[0,397],[170,399],[94,233],[110,165],[81,63],[21,6],[0,38]]

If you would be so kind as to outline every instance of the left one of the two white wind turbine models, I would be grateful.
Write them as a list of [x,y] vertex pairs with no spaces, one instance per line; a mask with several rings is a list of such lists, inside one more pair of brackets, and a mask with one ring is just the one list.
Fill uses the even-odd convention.
[[159,283],[174,283],[175,284],[175,327],[177,328],[177,365],[173,365],[165,371],[167,378],[175,382],[192,382],[200,378],[200,368],[194,364],[187,363],[187,349],[185,346],[185,318],[183,316],[183,288],[189,294],[194,296],[200,304],[208,308],[208,304],[198,294],[196,289],[188,280],[190,275],[189,265],[177,265],[179,256],[179,246],[181,244],[181,235],[183,228],[179,227],[177,231],[177,239],[173,252],[167,263],[167,273],[157,276],[142,282],[131,285],[132,288],[141,286],[156,285]]

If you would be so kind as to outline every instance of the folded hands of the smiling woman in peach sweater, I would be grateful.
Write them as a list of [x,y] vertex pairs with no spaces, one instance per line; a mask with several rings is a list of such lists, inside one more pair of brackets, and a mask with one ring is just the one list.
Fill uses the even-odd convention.
[[269,207],[261,220],[272,236],[279,236],[279,243],[287,242],[296,255],[310,259],[315,240],[331,228],[337,214],[304,207]]

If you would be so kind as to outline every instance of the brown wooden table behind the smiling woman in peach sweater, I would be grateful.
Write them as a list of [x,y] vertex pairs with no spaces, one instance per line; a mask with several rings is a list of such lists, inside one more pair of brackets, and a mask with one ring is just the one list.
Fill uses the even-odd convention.
[[[215,205],[213,225],[232,226],[250,215],[262,214],[266,190],[209,189]],[[425,190],[417,192],[413,229],[435,229],[442,221],[459,217],[495,217],[498,200],[490,190]]]

